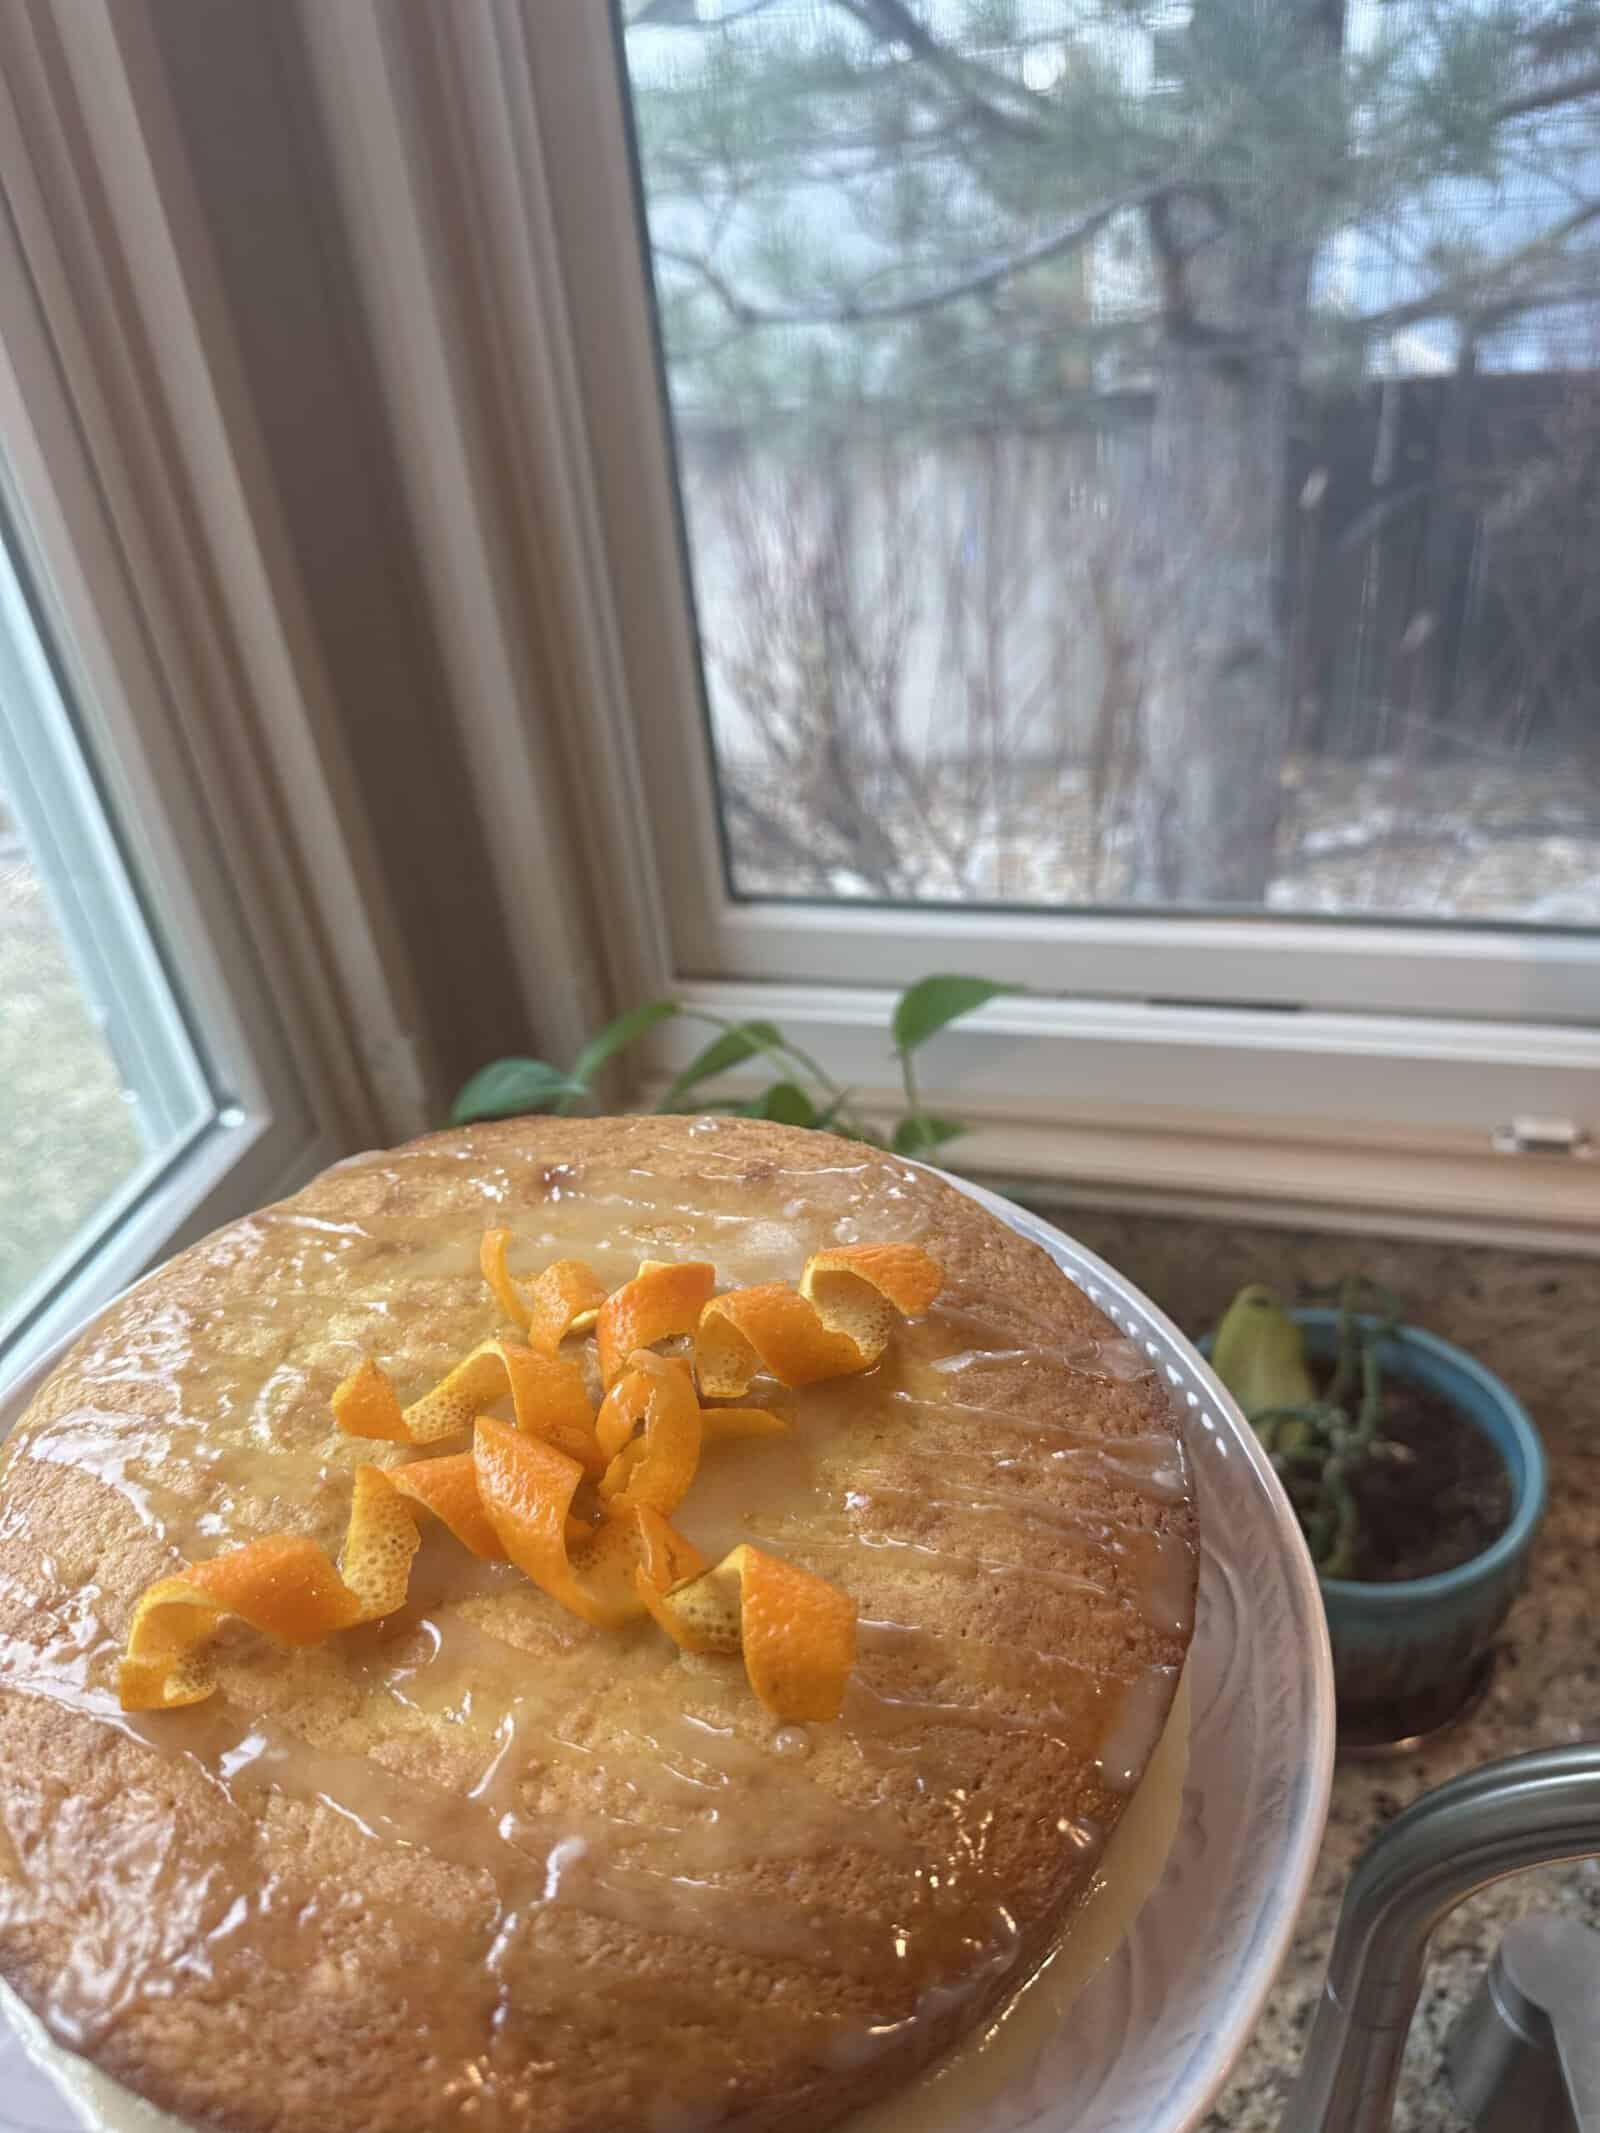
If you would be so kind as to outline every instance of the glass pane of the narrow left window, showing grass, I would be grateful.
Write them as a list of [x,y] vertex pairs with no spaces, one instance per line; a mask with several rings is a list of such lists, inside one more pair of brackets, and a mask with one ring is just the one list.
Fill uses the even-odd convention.
[[0,1342],[213,1116],[0,544]]

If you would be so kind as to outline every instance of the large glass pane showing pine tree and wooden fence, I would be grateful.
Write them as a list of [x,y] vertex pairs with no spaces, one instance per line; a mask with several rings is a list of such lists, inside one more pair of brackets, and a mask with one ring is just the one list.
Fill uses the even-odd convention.
[[1600,924],[1600,30],[627,0],[730,889]]

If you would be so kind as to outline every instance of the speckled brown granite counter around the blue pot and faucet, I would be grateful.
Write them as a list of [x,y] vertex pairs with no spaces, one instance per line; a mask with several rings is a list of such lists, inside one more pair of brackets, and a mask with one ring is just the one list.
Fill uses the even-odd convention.
[[[1101,1214],[1011,1190],[1137,1282],[1188,1333],[1216,1325],[1244,1282],[1271,1282],[1295,1297],[1359,1267],[1404,1299],[1408,1318],[1498,1372],[1549,1450],[1549,1512],[1487,1698],[1425,1753],[1340,1764],[1333,1777],[1327,1841],[1295,1943],[1207,2120],[1207,2133],[1265,2133],[1278,2124],[1323,1988],[1340,1894],[1374,1830],[1457,1770],[1600,1734],[1600,1261]],[[1402,2133],[1463,2127],[1440,2071],[1444,2035],[1504,1928],[1536,1909],[1600,1926],[1600,1862],[1517,1875],[1446,1920],[1406,2052],[1395,2105]]]

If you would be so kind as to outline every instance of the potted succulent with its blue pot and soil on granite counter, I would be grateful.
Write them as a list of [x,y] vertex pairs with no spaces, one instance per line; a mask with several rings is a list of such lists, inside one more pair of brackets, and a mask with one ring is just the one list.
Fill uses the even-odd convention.
[[1414,1741],[1472,1698],[1523,1583],[1545,1450],[1474,1357],[1376,1284],[1335,1308],[1239,1290],[1203,1344],[1316,1563],[1344,1747]]

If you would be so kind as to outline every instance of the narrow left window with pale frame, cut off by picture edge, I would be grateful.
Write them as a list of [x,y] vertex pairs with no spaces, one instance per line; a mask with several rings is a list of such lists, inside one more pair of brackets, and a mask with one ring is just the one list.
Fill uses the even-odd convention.
[[79,576],[92,514],[81,546],[62,540],[32,427],[47,397],[23,410],[15,386],[0,365],[0,433],[26,461],[0,546],[0,1384],[335,1152],[273,1039],[186,770],[158,717],[130,719],[154,676],[115,578],[96,599]]

